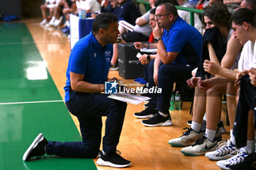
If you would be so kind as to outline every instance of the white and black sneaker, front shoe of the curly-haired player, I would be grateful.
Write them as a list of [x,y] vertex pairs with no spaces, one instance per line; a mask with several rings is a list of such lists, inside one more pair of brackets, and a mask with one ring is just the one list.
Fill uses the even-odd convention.
[[187,156],[197,156],[205,155],[206,152],[216,150],[217,140],[214,139],[214,142],[211,142],[206,138],[206,136],[201,136],[200,139],[197,139],[195,144],[192,144],[189,147],[182,148],[181,152]]

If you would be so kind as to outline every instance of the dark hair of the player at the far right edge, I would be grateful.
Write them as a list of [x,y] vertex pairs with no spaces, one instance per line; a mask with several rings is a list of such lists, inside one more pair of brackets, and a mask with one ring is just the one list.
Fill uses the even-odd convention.
[[240,8],[231,16],[230,21],[240,26],[246,22],[256,27],[256,12],[251,9]]

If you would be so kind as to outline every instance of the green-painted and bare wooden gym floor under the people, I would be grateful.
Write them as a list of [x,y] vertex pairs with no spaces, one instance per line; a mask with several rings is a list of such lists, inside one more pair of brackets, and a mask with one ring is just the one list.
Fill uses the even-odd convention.
[[[37,161],[22,161],[23,152],[40,132],[49,140],[81,139],[78,120],[70,117],[62,101],[69,39],[61,34],[60,28],[39,26],[40,21],[0,23],[0,170],[112,170],[95,166],[97,159],[46,156]],[[118,77],[118,71],[110,71],[110,76]],[[126,84],[135,83],[120,79]],[[190,104],[184,102],[181,111],[170,112],[172,126],[153,128],[145,127],[133,116],[143,110],[143,104],[128,104],[118,144],[121,155],[132,161],[132,166],[126,169],[219,169],[216,161],[209,161],[205,156],[184,156],[180,147],[168,144],[170,139],[181,136],[183,128],[188,126],[187,120],[192,119]],[[222,115],[222,120],[226,120],[225,112]],[[225,128],[229,131],[229,126]],[[229,134],[222,135],[222,139],[228,138]]]

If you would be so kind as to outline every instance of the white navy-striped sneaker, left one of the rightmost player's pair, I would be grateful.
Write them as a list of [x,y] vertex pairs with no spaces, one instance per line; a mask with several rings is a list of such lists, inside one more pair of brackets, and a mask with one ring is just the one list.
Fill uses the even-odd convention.
[[238,148],[229,139],[227,139],[227,142],[218,142],[218,145],[217,150],[206,153],[207,158],[219,161],[231,158],[238,152]]

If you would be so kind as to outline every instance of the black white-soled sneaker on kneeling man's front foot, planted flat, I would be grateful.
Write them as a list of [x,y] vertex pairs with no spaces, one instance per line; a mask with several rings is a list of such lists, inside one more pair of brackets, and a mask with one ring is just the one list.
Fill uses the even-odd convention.
[[131,164],[131,161],[121,157],[121,152],[105,153],[99,152],[99,158],[97,160],[99,166],[111,166],[114,168],[124,168]]

